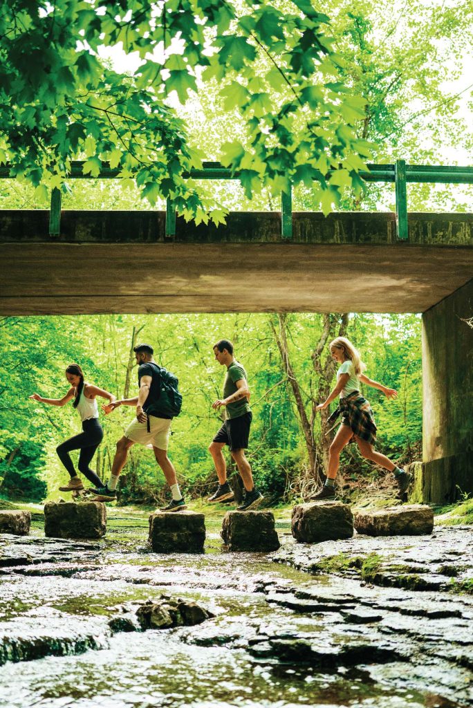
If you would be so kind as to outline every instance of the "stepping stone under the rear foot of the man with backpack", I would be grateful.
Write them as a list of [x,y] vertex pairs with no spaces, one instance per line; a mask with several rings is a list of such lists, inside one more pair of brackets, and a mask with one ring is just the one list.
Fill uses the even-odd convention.
[[203,553],[205,517],[195,511],[149,515],[149,544],[155,553]]

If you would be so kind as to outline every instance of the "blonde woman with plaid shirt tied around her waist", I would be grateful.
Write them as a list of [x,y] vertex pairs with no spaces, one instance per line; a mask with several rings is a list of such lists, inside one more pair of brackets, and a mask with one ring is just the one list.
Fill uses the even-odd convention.
[[317,406],[317,411],[325,409],[331,401],[340,396],[338,405],[341,409],[342,421],[330,446],[329,469],[325,484],[313,498],[318,500],[333,499],[335,497],[335,478],[340,464],[340,453],[343,447],[348,445],[348,442],[351,442],[352,438],[355,438],[363,457],[380,464],[385,469],[389,469],[389,472],[394,472],[399,491],[404,493],[409,486],[412,475],[409,472],[405,472],[401,467],[397,467],[386,455],[373,450],[376,440],[376,423],[369,402],[360,394],[360,382],[382,391],[388,399],[397,398],[397,391],[389,389],[377,381],[372,381],[372,379],[368,379],[363,374],[365,365],[360,359],[360,354],[346,337],[334,339],[330,343],[330,353],[332,358],[340,364],[337,371],[336,387],[327,396],[326,401]]

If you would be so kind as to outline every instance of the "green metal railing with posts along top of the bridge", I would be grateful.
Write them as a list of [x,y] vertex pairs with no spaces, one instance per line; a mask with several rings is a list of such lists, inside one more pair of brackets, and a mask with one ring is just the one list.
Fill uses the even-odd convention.
[[[74,161],[68,178],[91,179],[84,175],[84,162]],[[396,194],[396,232],[400,241],[409,238],[407,227],[407,183],[473,184],[473,167],[444,167],[439,165],[409,165],[405,160],[395,164],[368,164],[367,171],[360,171],[366,182],[394,182]],[[0,178],[10,177],[10,166],[0,166]],[[97,179],[118,178],[120,169],[111,169],[106,162]],[[193,169],[184,173],[193,179],[238,179],[239,173],[222,166],[220,162],[204,162],[203,169]],[[51,193],[50,236],[59,236],[61,227],[61,192],[55,188]],[[166,236],[176,235],[176,210],[171,200],[166,202]],[[281,236],[292,238],[292,190],[281,193]]]

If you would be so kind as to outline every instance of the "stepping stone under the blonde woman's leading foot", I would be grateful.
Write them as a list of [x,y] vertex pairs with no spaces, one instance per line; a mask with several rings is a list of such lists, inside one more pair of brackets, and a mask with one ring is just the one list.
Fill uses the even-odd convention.
[[314,501],[292,509],[292,535],[300,543],[336,541],[353,536],[353,514],[341,501]]

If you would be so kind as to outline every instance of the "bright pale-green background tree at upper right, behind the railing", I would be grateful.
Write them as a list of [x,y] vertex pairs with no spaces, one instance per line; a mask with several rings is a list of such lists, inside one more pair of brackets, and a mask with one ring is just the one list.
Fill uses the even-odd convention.
[[[471,4],[329,0],[326,11],[336,18],[341,71],[366,101],[358,136],[375,146],[375,161],[450,164],[448,149],[471,149],[471,125],[459,110],[462,95],[473,89],[464,64],[473,43]],[[363,208],[373,209],[387,189],[370,185]],[[424,210],[429,195],[437,209],[451,208],[452,188],[443,185],[411,185],[409,207]],[[389,201],[394,205],[393,193]]]

